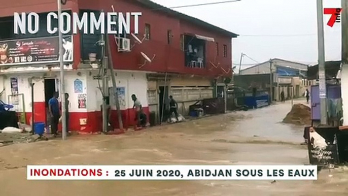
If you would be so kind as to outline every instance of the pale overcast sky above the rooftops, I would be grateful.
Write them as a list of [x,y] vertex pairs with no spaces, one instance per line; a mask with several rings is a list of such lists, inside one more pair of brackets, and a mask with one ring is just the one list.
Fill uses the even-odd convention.
[[[166,7],[227,0],[152,0]],[[241,0],[173,10],[199,18],[240,36],[232,41],[232,61],[239,64],[243,52],[257,62],[283,58],[305,63],[318,61],[316,0]],[[323,0],[324,8],[340,8],[340,0]],[[326,60],[341,56],[341,27],[326,25],[324,16]],[[282,36],[284,35],[284,36]],[[302,36],[287,36],[302,35]],[[255,61],[243,58],[243,68]]]

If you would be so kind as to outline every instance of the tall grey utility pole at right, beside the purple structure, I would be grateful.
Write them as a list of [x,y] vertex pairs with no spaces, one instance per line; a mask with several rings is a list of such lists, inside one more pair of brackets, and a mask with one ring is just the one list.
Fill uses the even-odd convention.
[[327,124],[323,0],[317,0],[320,122]]

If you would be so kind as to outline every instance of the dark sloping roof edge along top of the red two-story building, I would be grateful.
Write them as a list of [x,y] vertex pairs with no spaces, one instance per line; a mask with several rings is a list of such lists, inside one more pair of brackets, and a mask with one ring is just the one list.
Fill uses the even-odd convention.
[[172,15],[172,16],[175,16],[179,19],[182,19],[182,20],[186,20],[188,22],[191,22],[191,23],[194,23],[194,24],[197,24],[201,27],[204,27],[204,28],[207,28],[207,29],[210,29],[210,30],[213,30],[213,31],[216,31],[216,32],[219,32],[220,34],[223,34],[223,35],[226,35],[226,36],[229,36],[231,38],[236,38],[237,36],[239,36],[238,34],[235,34],[234,32],[230,32],[226,29],[223,29],[223,28],[220,28],[218,26],[215,26],[213,24],[210,24],[210,23],[207,23],[207,22],[204,22],[203,20],[200,20],[198,18],[194,18],[192,16],[188,16],[186,14],[183,14],[183,13],[180,13],[180,12],[177,12],[177,11],[174,11],[174,10],[171,10],[169,8],[166,8],[164,6],[161,6],[159,4],[156,4],[150,0],[134,0],[135,2],[139,3],[139,4],[142,4],[144,6],[147,6],[149,8],[151,8],[152,10],[154,11],[160,11],[160,12],[164,12],[166,14],[169,14],[169,15]]

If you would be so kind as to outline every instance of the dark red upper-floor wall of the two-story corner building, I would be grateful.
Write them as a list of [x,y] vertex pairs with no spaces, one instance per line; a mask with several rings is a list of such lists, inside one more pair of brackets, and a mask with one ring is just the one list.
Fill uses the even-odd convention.
[[[144,3],[145,2],[145,3]],[[114,5],[116,12],[142,12],[139,20],[139,34],[142,38],[145,34],[145,24],[151,25],[151,39],[146,40],[141,45],[135,45],[131,52],[119,53],[113,36],[110,36],[112,57],[114,68],[121,70],[139,70],[151,72],[171,72],[181,74],[205,75],[211,77],[231,76],[232,67],[232,37],[237,35],[228,31],[207,25],[202,21],[197,21],[183,14],[167,9],[154,10],[156,4],[147,0],[68,0],[63,9],[71,9],[73,12],[79,10],[103,10],[111,12],[111,5]],[[30,8],[30,9],[29,9]],[[32,1],[9,1],[0,5],[0,14],[2,16],[13,15],[13,12],[48,12],[57,9],[56,0],[32,0]],[[1,16],[0,15],[0,16]],[[192,22],[193,20],[193,22]],[[132,22],[134,20],[131,20]],[[134,30],[134,24],[131,25],[131,31]],[[167,43],[167,30],[171,30],[171,43]],[[185,55],[181,50],[181,35],[198,34],[201,36],[212,37],[215,42],[206,42],[205,45],[205,68],[185,67]],[[131,42],[134,40],[131,38]],[[216,43],[219,43],[219,55],[216,51]],[[74,59],[78,64],[80,55],[80,36],[74,36]],[[227,46],[227,56],[223,55],[223,46]],[[149,57],[156,55],[152,63],[144,63],[144,58],[140,52],[146,53]],[[210,63],[213,62],[215,67]],[[216,66],[218,66],[216,68]],[[223,69],[221,69],[223,68]],[[225,72],[228,73],[225,73]]]

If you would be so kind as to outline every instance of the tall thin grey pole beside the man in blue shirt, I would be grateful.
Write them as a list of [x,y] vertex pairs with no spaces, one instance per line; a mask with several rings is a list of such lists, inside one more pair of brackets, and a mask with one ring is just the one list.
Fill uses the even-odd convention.
[[66,140],[66,111],[65,111],[65,88],[64,88],[64,59],[63,59],[63,35],[61,28],[63,21],[61,20],[61,0],[57,0],[58,4],[58,39],[59,39],[59,65],[60,65],[60,100],[61,100],[61,124],[62,139]]

